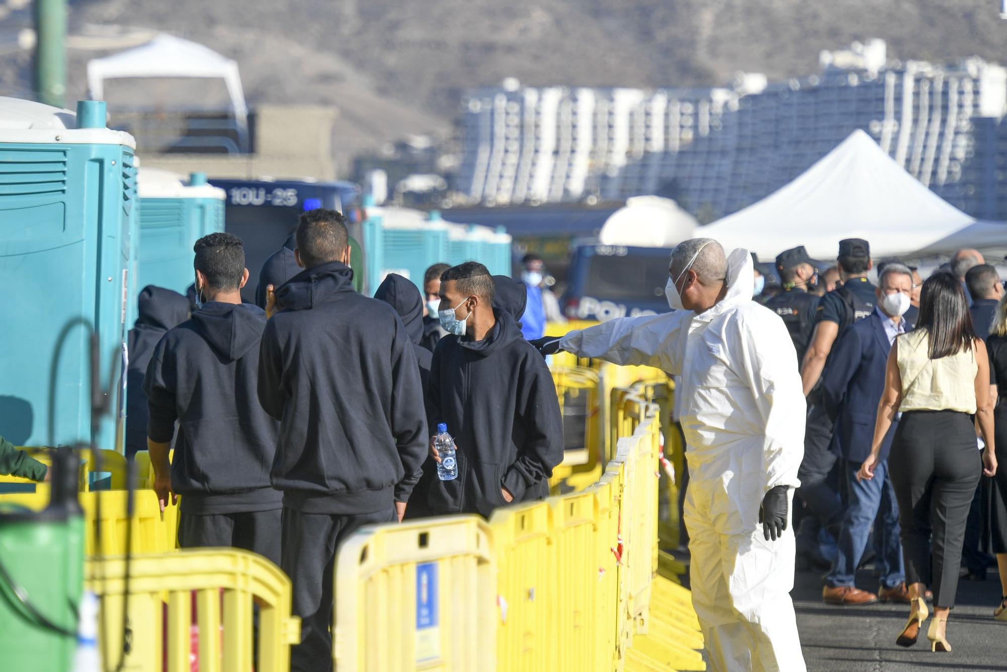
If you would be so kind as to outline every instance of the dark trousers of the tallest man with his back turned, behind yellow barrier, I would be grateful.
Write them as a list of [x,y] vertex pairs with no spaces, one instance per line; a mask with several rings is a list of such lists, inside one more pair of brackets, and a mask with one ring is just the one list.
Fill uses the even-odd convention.
[[293,582],[293,611],[301,643],[290,652],[293,672],[332,669],[332,571],[339,544],[365,525],[398,520],[395,505],[370,514],[306,514],[284,507],[280,566]]

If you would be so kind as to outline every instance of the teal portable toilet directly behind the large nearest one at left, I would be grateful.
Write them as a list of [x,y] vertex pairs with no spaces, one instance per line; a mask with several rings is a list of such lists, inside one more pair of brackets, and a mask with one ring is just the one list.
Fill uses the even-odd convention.
[[[184,294],[195,281],[192,246],[197,240],[224,231],[227,191],[206,182],[206,175],[187,179],[176,172],[141,166],[137,173],[140,240],[133,259],[136,296],[147,285]],[[136,321],[136,315],[128,321]]]

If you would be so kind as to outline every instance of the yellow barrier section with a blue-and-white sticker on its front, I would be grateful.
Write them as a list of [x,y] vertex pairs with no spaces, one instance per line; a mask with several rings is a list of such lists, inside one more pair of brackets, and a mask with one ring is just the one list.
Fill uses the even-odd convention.
[[336,670],[496,669],[495,574],[481,518],[362,529],[335,566]]

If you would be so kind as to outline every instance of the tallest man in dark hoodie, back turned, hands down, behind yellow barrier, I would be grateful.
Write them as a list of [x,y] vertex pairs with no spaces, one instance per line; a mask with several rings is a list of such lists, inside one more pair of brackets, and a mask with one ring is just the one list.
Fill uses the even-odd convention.
[[353,289],[344,222],[301,215],[294,254],[307,270],[276,289],[259,358],[259,400],[281,421],[272,476],[301,618],[294,670],[331,667],[336,549],[362,525],[402,520],[426,454],[413,343],[390,305]]

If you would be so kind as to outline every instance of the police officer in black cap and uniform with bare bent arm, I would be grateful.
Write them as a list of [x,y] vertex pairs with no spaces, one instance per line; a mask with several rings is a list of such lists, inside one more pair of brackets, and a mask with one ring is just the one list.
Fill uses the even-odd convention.
[[871,314],[877,302],[874,285],[867,281],[872,266],[867,241],[859,238],[840,241],[838,265],[843,285],[820,300],[801,368],[808,396],[808,424],[805,457],[798,472],[801,480],[798,494],[819,524],[833,536],[839,534],[843,512],[838,483],[834,477],[830,478],[837,460],[829,449],[833,423],[822,407],[818,383],[836,339],[856,320]]

